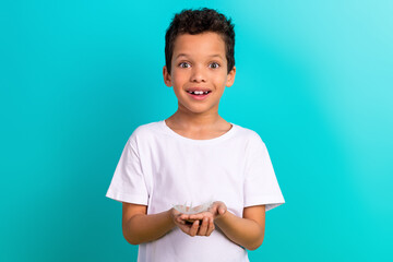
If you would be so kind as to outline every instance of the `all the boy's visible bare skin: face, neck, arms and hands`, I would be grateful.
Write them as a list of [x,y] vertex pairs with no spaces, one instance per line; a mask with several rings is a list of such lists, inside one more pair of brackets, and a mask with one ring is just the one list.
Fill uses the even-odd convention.
[[[225,43],[218,34],[209,32],[178,36],[171,73],[164,67],[163,75],[165,84],[174,88],[178,98],[178,110],[165,120],[170,129],[186,138],[206,140],[217,138],[231,128],[218,115],[218,104],[225,87],[234,84],[236,68],[227,72]],[[192,86],[207,87],[212,93],[204,100],[195,100],[186,92]],[[175,227],[191,237],[209,237],[216,226],[231,241],[249,250],[257,249],[263,242],[264,205],[245,207],[242,217],[230,213],[221,201],[214,202],[209,211],[195,215],[181,214],[175,209],[150,215],[146,212],[145,205],[123,203],[122,229],[128,242],[139,245],[153,241]]]

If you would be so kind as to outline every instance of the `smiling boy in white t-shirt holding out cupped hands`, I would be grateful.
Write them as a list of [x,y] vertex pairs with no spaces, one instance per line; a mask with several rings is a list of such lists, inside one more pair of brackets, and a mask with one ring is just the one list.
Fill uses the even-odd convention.
[[[178,110],[134,130],[107,196],[122,202],[123,236],[140,245],[138,261],[249,261],[247,249],[263,241],[265,211],[284,198],[258,133],[218,115],[235,81],[234,25],[215,10],[183,10],[165,38],[164,82]],[[209,209],[175,209],[184,202]]]

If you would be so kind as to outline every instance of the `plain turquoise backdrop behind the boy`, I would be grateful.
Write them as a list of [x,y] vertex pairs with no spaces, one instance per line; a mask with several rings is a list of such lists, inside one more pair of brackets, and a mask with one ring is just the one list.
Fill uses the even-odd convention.
[[393,2],[0,3],[0,261],[136,261],[105,198],[164,85],[176,12],[233,17],[237,75],[219,114],[266,143],[286,204],[251,261],[393,258]]

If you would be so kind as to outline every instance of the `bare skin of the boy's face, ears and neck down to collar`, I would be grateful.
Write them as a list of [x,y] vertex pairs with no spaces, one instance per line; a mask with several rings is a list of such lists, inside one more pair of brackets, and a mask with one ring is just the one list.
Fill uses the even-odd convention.
[[[184,53],[186,56],[180,56]],[[217,55],[218,57],[212,57]],[[213,139],[226,133],[230,123],[218,115],[225,87],[234,84],[236,67],[227,73],[225,43],[218,34],[180,35],[175,40],[171,73],[163,69],[164,82],[178,99],[177,111],[166,119],[175,132],[191,139]],[[192,86],[212,90],[207,99],[195,100],[186,92]]]

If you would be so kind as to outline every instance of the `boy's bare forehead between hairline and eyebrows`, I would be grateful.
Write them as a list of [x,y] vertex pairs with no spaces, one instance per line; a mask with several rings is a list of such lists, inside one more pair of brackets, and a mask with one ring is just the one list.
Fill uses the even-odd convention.
[[218,55],[225,58],[225,41],[223,37],[213,32],[198,35],[179,35],[174,45],[174,58],[179,55],[211,57]]

